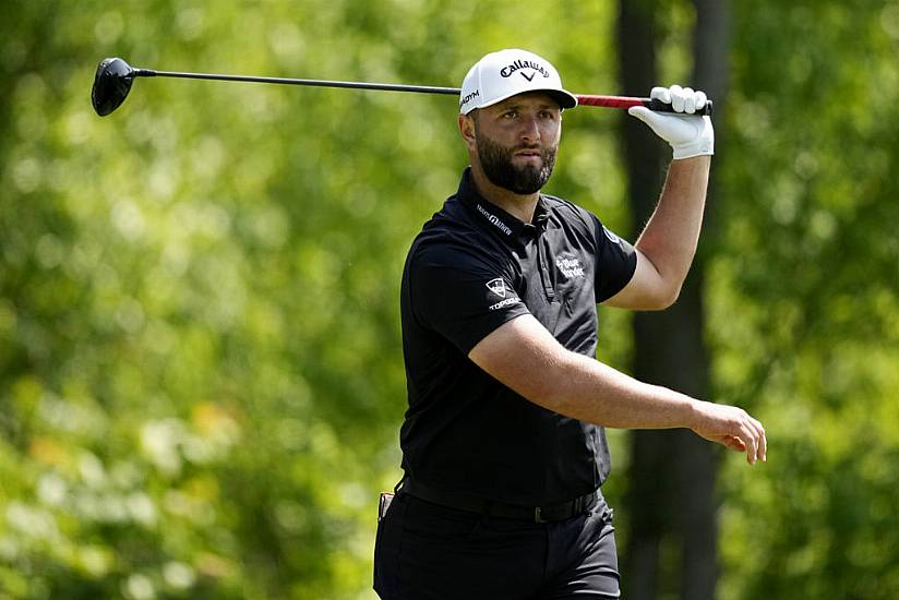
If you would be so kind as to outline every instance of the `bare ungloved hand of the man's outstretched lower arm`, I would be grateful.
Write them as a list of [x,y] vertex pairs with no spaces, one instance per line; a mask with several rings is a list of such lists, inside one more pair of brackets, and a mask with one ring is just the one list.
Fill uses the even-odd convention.
[[750,465],[767,460],[765,428],[742,408],[699,401],[691,429],[706,440],[732,451],[745,452]]

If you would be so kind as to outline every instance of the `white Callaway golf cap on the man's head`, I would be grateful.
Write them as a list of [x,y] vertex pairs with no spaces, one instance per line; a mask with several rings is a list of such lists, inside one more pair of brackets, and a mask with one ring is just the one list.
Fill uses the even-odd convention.
[[525,92],[546,92],[562,108],[577,106],[577,97],[562,87],[559,72],[547,59],[527,50],[506,49],[490,52],[465,75],[459,112],[468,115]]

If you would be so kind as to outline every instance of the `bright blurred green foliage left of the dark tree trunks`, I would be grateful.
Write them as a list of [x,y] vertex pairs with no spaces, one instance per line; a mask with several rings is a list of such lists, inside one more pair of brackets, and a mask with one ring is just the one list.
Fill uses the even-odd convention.
[[[456,86],[526,40],[611,86],[608,7],[571,3],[577,44],[512,8],[4,5],[0,597],[372,597],[398,281],[465,165],[454,99],[141,80],[100,119],[89,84],[121,56]],[[572,132],[566,193],[596,184],[598,123]]]

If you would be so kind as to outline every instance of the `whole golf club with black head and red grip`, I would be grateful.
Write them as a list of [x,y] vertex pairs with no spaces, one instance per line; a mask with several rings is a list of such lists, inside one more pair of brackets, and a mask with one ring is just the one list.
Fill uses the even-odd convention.
[[[277,83],[283,85],[309,85],[315,87],[345,87],[351,89],[381,89],[387,92],[459,95],[459,88],[457,87],[154,71],[152,69],[135,69],[120,58],[107,58],[101,60],[99,65],[97,65],[97,73],[94,75],[94,86],[91,88],[91,100],[97,115],[100,117],[106,117],[119,108],[128,97],[129,92],[131,92],[131,85],[134,83],[134,77],[179,77],[189,80],[240,81],[251,83]],[[671,105],[667,105],[659,100],[630,96],[577,95],[577,104],[584,106],[600,106],[606,108],[624,109],[632,106],[645,106],[650,110],[660,112],[673,111],[671,109]],[[699,113],[711,115],[711,100],[706,103],[705,108],[699,111]]]

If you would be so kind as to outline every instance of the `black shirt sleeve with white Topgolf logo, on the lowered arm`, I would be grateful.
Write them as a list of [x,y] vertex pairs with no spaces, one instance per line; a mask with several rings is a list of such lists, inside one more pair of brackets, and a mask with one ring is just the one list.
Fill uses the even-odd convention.
[[419,247],[408,276],[415,319],[466,356],[496,327],[529,312],[515,291],[511,265],[464,248]]

